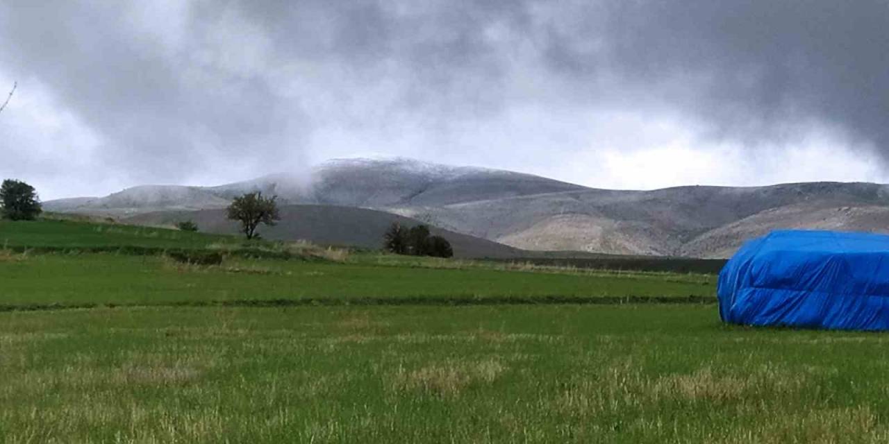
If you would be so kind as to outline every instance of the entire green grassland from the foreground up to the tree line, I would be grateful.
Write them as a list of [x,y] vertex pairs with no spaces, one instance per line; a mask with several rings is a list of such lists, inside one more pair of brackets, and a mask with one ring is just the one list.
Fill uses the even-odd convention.
[[[81,222],[0,240],[3,442],[889,441],[889,337],[726,326],[712,275],[246,258]],[[116,249],[220,244],[219,266]]]

